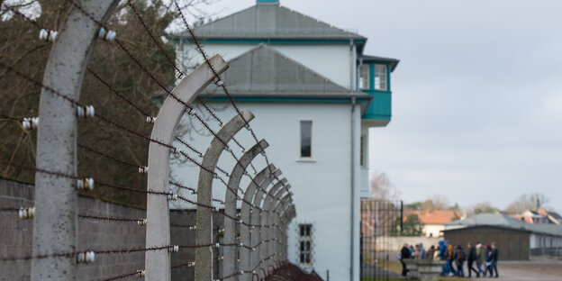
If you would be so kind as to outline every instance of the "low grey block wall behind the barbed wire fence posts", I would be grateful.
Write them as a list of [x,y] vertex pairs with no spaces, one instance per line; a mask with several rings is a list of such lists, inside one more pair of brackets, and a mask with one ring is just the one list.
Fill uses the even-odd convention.
[[[19,208],[33,205],[34,187],[0,179],[0,207]],[[79,197],[79,213],[123,218],[145,218],[145,210],[113,204],[89,197]],[[195,211],[175,210],[170,223],[195,225]],[[222,228],[222,215],[213,218],[214,228]],[[17,213],[0,212],[0,257],[23,257],[32,254],[32,220],[22,220]],[[78,249],[137,249],[145,247],[145,227],[136,222],[102,222],[78,220]],[[186,227],[171,227],[171,243],[195,245],[195,231]],[[214,240],[222,238],[215,234]],[[216,256],[215,256],[216,257]],[[78,280],[97,280],[118,276],[144,268],[144,252],[118,255],[96,255],[95,263],[78,265]],[[172,267],[195,260],[194,250],[172,254]],[[31,261],[0,262],[0,280],[29,280]],[[215,274],[218,274],[215,267]],[[193,280],[193,267],[172,268],[172,280]]]

